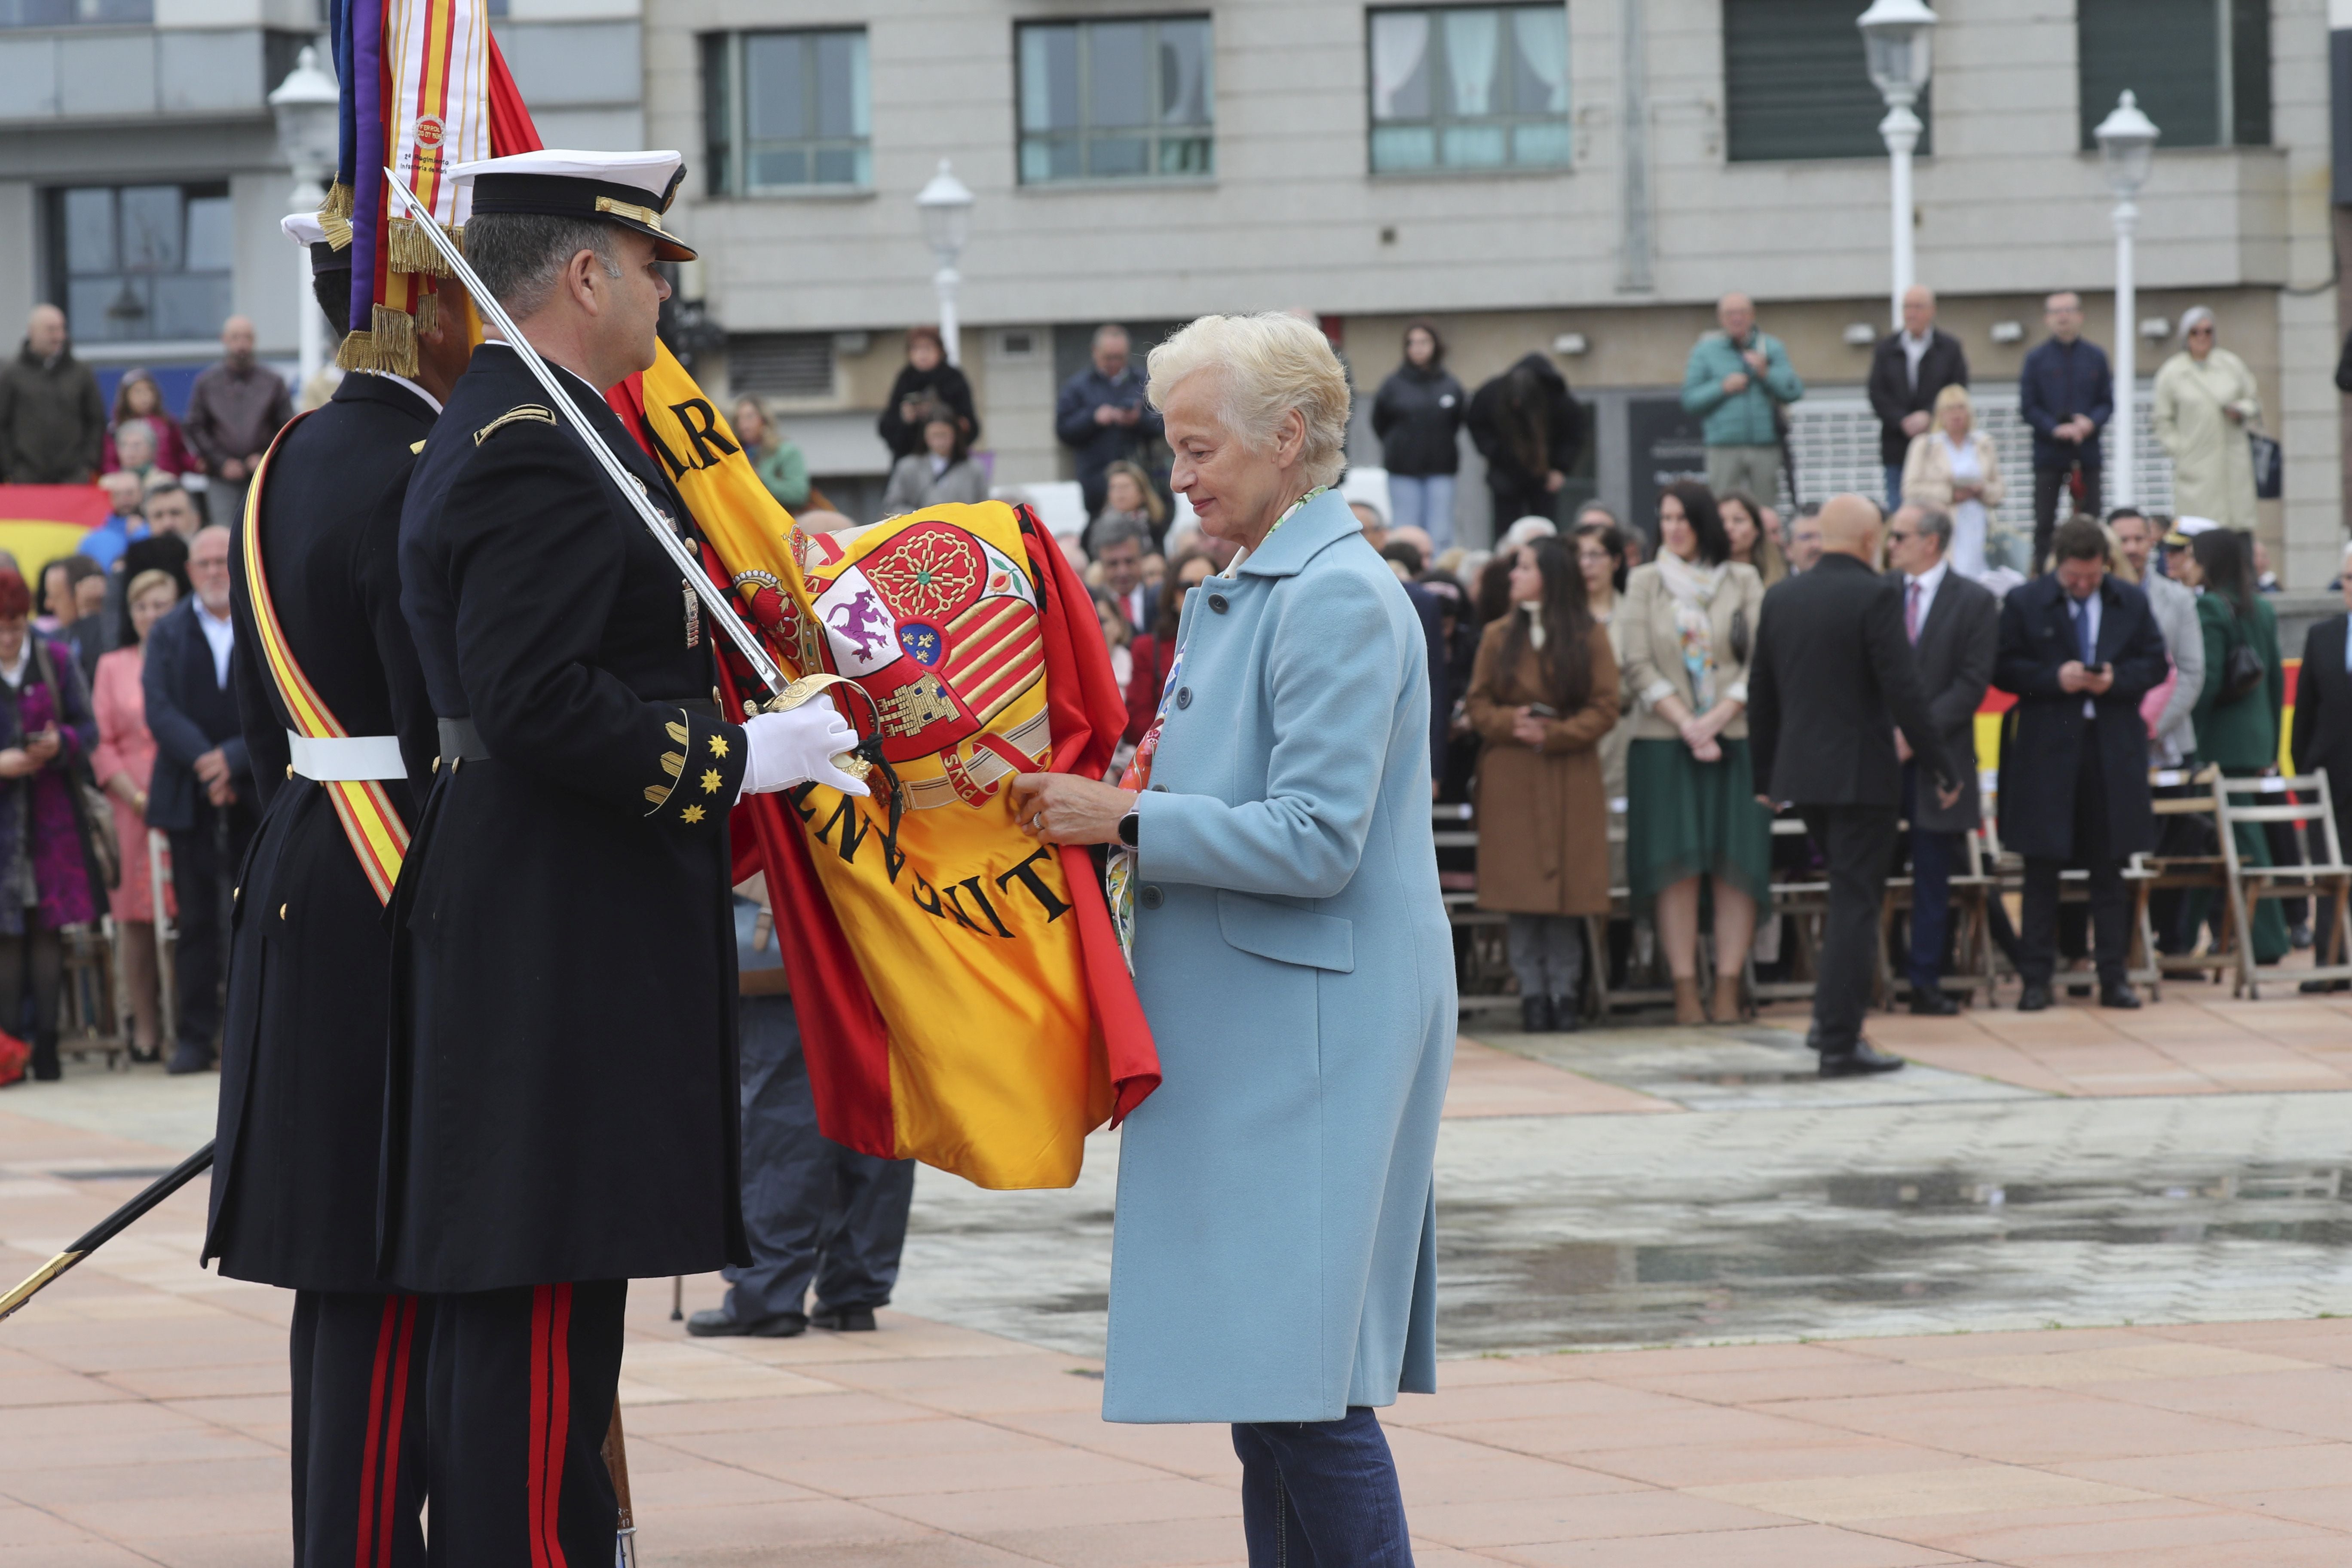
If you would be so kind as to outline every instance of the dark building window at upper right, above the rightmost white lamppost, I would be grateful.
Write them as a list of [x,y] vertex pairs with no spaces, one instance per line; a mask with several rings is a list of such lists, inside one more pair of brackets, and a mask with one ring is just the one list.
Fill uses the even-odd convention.
[[2082,0],[2082,148],[2129,87],[2159,148],[2270,146],[2270,0]]

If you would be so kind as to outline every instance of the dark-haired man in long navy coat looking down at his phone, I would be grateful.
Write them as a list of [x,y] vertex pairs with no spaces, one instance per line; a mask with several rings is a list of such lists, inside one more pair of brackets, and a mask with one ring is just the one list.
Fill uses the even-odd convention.
[[2164,632],[2131,583],[2107,576],[2107,534],[2070,517],[2056,569],[2002,602],[1992,684],[2018,698],[2002,736],[2002,842],[2025,856],[2018,1011],[2051,1004],[2058,875],[2091,872],[2098,1004],[2140,1006],[2124,978],[2124,860],[2154,849],[2140,698],[2164,682]]

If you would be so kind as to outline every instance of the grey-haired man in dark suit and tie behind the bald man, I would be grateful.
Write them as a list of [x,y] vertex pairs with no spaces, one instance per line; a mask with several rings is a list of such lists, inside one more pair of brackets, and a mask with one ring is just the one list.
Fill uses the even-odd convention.
[[1959,799],[1940,806],[1931,790],[1919,790],[1910,743],[1896,736],[1912,853],[1912,1011],[1938,1018],[1959,1011],[1943,994],[1943,945],[1952,929],[1952,867],[1983,811],[1976,792],[1976,708],[1985,701],[2002,642],[2002,602],[1952,571],[1943,557],[1950,543],[1952,515],[1933,508],[1905,505],[1886,527],[1886,555],[1896,567],[1886,581],[1903,592],[1903,635],[1919,661],[1919,689],[1959,776]]

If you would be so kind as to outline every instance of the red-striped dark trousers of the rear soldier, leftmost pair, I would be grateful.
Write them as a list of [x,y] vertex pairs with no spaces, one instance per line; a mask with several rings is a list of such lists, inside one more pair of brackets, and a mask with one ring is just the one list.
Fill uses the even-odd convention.
[[294,1568],[416,1568],[433,1302],[296,1291],[289,1349]]

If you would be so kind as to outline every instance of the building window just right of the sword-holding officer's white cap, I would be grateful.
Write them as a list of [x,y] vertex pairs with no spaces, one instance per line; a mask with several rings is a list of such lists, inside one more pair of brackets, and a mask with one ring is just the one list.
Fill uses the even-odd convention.
[[873,183],[866,28],[703,35],[713,195]]

